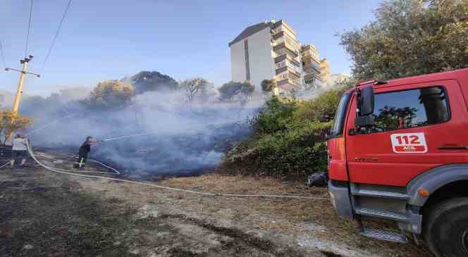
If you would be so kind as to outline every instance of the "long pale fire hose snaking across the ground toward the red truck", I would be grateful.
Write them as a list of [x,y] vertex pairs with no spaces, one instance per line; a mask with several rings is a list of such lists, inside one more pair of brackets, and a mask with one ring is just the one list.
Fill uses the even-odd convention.
[[[325,197],[312,197],[312,196],[291,196],[291,195],[274,195],[274,194],[220,194],[220,193],[211,193],[211,192],[199,192],[199,191],[193,191],[189,189],[180,189],[176,187],[164,187],[160,186],[157,184],[151,184],[147,182],[137,182],[137,181],[132,181],[132,180],[123,180],[119,178],[114,178],[114,177],[103,177],[99,175],[84,175],[84,174],[77,174],[75,173],[75,170],[63,170],[63,169],[57,169],[57,168],[52,168],[49,167],[48,165],[45,165],[44,163],[40,162],[37,160],[34,151],[32,151],[32,148],[27,142],[27,152],[30,154],[31,158],[42,168],[45,168],[47,170],[50,170],[51,172],[58,173],[58,174],[63,174],[63,175],[71,175],[75,177],[87,177],[87,178],[97,178],[101,180],[111,180],[111,181],[118,181],[118,182],[125,182],[129,184],[139,184],[145,187],[154,187],[154,188],[159,188],[159,189],[166,189],[166,190],[171,190],[171,191],[176,191],[176,192],[186,192],[190,194],[199,194],[203,196],[228,196],[228,197],[264,197],[264,198],[288,198],[288,199],[312,199],[312,200],[328,200]],[[3,166],[2,166],[3,167]],[[111,173],[109,173],[111,174]]]

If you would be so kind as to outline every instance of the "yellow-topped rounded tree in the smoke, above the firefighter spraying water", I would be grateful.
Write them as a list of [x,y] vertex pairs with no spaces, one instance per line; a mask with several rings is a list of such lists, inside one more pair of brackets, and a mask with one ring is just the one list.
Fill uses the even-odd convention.
[[133,96],[135,88],[132,85],[118,80],[106,80],[97,84],[82,103],[90,108],[119,108],[128,106]]

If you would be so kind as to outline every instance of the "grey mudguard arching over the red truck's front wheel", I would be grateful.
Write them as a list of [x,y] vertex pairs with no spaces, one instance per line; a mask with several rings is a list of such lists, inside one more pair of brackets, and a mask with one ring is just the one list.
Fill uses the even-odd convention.
[[406,192],[410,196],[408,204],[423,206],[429,197],[420,196],[418,190],[421,188],[429,191],[429,195],[445,184],[460,180],[468,180],[467,164],[442,165],[422,173],[407,184]]

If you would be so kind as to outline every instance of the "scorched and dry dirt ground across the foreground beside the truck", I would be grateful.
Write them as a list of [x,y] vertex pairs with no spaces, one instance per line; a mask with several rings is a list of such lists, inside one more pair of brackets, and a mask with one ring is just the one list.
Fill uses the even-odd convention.
[[[326,189],[266,177],[210,174],[156,184],[328,198]],[[430,256],[414,243],[359,236],[328,200],[200,196],[36,165],[0,170],[0,207],[0,256]]]

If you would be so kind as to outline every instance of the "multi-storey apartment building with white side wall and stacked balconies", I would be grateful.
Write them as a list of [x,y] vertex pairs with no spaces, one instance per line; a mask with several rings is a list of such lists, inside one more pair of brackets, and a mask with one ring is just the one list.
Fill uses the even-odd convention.
[[257,92],[262,80],[274,78],[279,92],[290,92],[321,84],[330,75],[328,61],[319,59],[314,46],[301,46],[297,32],[283,20],[247,27],[228,45],[232,80],[250,81]]

